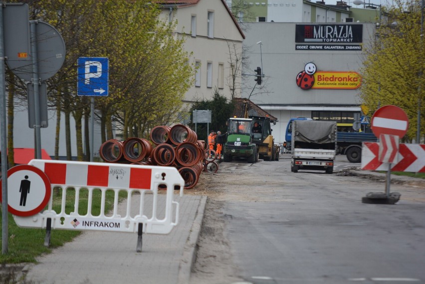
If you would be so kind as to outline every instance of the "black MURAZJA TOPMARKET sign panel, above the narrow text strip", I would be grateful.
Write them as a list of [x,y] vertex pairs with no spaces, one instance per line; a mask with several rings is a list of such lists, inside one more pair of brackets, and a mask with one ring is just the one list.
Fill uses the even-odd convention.
[[297,24],[295,42],[361,43],[362,24]]

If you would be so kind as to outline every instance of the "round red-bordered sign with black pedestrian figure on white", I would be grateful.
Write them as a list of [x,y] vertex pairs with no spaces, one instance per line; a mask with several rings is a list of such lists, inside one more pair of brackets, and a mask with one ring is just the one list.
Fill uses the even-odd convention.
[[[0,198],[2,187],[0,183]],[[35,215],[50,200],[50,181],[40,169],[18,165],[7,171],[7,207],[16,216]]]

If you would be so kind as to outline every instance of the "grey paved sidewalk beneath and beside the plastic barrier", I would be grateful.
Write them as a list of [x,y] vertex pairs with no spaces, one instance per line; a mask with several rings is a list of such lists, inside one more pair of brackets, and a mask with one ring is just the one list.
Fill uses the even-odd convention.
[[85,231],[39,258],[27,279],[41,284],[188,284],[207,197],[176,194],[175,200],[179,224],[169,235],[143,234],[141,253],[136,252],[136,233]]

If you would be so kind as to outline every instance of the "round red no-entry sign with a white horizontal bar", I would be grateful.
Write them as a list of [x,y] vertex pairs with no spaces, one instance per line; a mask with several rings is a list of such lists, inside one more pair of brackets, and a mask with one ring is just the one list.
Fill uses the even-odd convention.
[[378,138],[381,134],[395,135],[402,138],[408,130],[409,118],[400,107],[385,105],[375,111],[372,116],[371,127]]

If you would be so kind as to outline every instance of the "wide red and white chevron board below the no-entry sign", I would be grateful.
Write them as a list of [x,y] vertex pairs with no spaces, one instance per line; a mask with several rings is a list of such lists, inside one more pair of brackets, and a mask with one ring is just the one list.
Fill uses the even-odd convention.
[[[363,142],[362,170],[387,171],[388,164],[379,161],[379,143]],[[425,144],[399,145],[398,162],[391,171],[425,173]]]

